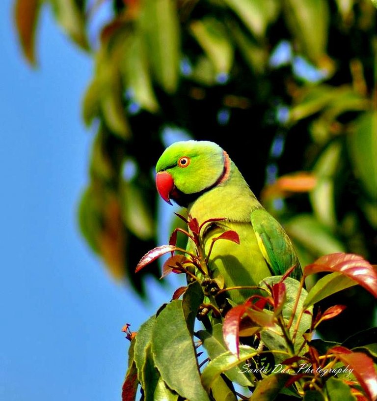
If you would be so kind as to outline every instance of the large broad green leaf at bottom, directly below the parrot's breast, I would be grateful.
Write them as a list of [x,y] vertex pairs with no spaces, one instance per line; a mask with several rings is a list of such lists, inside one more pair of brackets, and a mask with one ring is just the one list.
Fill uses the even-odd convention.
[[153,329],[152,352],[156,367],[169,388],[190,401],[209,401],[200,383],[195,349],[181,300],[171,301],[158,315]]

